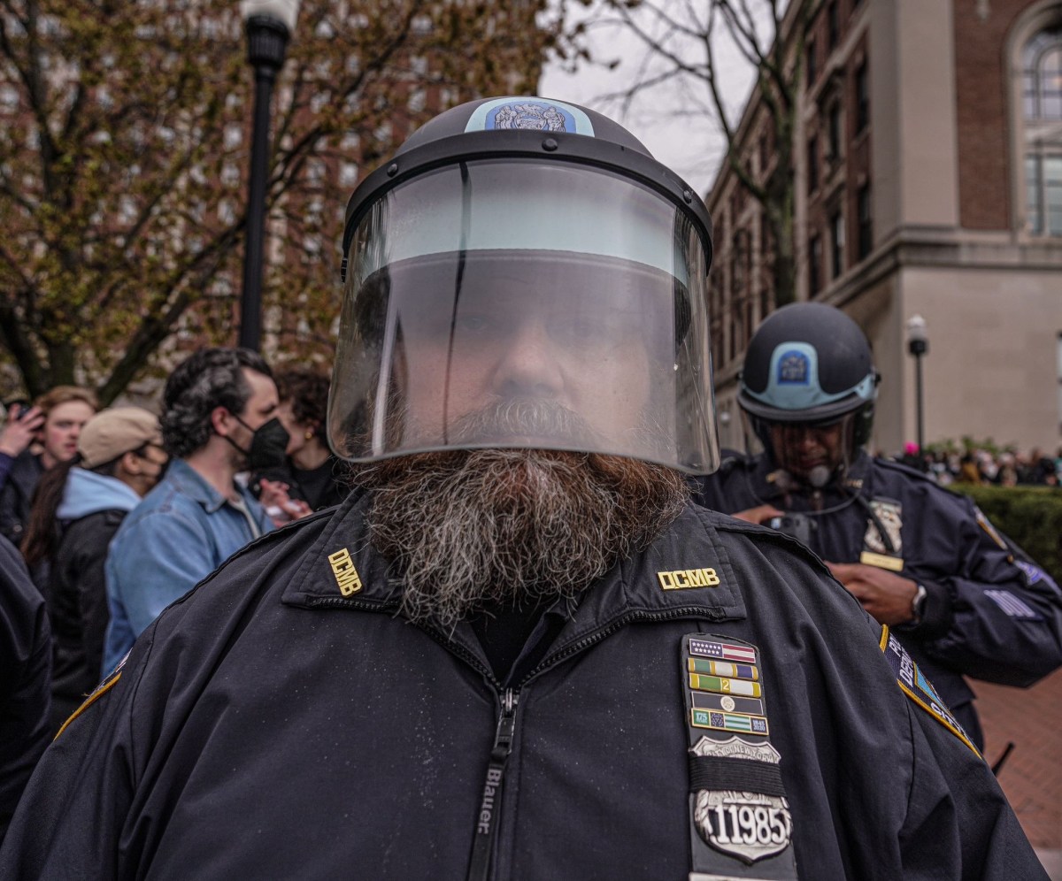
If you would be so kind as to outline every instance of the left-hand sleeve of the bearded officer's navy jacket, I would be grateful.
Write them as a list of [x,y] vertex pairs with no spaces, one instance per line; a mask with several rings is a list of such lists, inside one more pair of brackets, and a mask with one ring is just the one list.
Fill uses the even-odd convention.
[[[272,553],[296,558],[299,547],[270,545]],[[172,745],[218,654],[257,601],[247,569],[226,568],[246,553],[215,574],[222,581],[200,594],[202,602],[189,593],[159,616],[66,723],[19,804],[0,850],[0,879],[150,874],[166,832],[167,799],[189,773]],[[270,559],[259,555],[247,565],[266,571]]]

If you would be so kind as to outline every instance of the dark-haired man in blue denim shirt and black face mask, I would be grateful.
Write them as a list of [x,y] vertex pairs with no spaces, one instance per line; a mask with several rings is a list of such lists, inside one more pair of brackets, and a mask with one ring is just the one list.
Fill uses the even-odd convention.
[[[249,349],[203,349],[170,375],[160,420],[170,467],[107,554],[103,674],[164,608],[274,528],[236,477],[284,461],[278,404],[269,365]],[[274,487],[272,501],[286,498]]]

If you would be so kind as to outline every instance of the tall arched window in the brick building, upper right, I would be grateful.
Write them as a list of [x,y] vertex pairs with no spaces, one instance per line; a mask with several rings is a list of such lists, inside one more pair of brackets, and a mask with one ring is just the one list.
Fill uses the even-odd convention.
[[1025,229],[1062,236],[1062,6],[1021,48]]

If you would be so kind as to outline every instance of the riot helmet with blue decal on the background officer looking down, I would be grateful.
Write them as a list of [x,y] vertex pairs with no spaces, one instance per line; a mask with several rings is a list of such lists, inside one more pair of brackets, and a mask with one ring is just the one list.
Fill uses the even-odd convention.
[[795,303],[753,334],[738,404],[785,477],[821,488],[870,439],[877,383],[859,325],[832,306]]

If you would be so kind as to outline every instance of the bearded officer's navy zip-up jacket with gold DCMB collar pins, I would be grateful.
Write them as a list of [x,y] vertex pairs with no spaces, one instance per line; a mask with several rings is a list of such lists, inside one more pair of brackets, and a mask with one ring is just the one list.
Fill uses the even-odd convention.
[[1046,878],[984,761],[787,536],[688,505],[500,683],[467,624],[402,618],[369,504],[263,536],[144,632],[49,747],[0,877],[463,878],[489,811],[489,877],[687,879],[693,634],[758,652],[800,878]]

